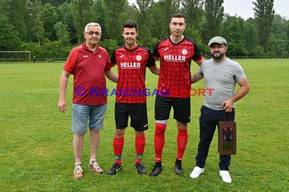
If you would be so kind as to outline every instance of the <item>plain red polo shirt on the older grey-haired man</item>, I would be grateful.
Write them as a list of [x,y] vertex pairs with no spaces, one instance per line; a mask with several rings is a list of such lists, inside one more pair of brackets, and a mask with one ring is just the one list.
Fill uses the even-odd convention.
[[73,103],[82,105],[102,105],[107,103],[104,71],[111,70],[110,57],[100,46],[93,53],[85,42],[74,47],[63,69],[74,75]]

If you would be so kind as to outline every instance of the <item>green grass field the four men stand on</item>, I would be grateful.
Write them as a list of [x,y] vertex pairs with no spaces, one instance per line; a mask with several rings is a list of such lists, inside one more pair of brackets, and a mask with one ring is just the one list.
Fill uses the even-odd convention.
[[[66,114],[57,109],[59,78],[64,63],[0,64],[0,191],[288,191],[289,190],[289,60],[237,60],[245,69],[250,92],[236,105],[237,155],[232,156],[232,183],[219,176],[218,135],[212,141],[205,172],[189,177],[195,166],[198,117],[202,97],[192,97],[189,140],[183,159],[185,173],[174,173],[175,120],[166,130],[163,171],[149,177],[154,165],[154,97],[148,97],[149,130],[143,163],[148,174],[138,175],[134,164],[134,132],[128,128],[123,170],[114,176],[89,171],[89,140],[82,157],[84,177],[73,178],[71,132],[73,76],[67,88]],[[114,68],[114,71],[116,68]],[[192,72],[197,65],[192,64]],[[147,88],[157,87],[157,76],[147,71]],[[108,88],[116,84],[107,80]],[[193,85],[203,88],[203,80]],[[97,162],[105,171],[114,162],[114,97],[108,97],[105,125],[100,132]]]

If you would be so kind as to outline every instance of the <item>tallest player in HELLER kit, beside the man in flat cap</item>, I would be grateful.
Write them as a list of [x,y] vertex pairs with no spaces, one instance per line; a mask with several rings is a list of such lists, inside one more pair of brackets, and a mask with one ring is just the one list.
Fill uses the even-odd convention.
[[[153,57],[155,61],[160,59],[160,75],[158,82],[159,95],[155,102],[156,129],[155,167],[150,176],[157,176],[162,171],[162,153],[165,144],[165,130],[169,119],[171,107],[173,118],[176,120],[177,157],[175,161],[175,173],[182,174],[182,158],[187,146],[187,123],[191,116],[191,60],[199,66],[205,61],[197,44],[183,35],[186,28],[186,19],[183,14],[172,15],[169,21],[171,35],[160,40],[154,47]],[[185,90],[185,91],[184,91]]]

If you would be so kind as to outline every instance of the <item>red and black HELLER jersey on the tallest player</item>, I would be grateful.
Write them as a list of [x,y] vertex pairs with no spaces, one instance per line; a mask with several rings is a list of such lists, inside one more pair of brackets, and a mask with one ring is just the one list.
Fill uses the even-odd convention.
[[173,43],[170,37],[166,37],[157,42],[153,56],[160,58],[158,82],[160,95],[172,98],[189,98],[191,60],[200,61],[203,59],[198,45],[187,37],[178,43]]

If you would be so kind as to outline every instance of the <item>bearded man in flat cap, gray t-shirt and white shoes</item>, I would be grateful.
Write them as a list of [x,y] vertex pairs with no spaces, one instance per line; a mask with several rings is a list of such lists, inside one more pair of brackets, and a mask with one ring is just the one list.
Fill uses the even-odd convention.
[[[212,59],[202,63],[192,76],[192,83],[204,78],[205,97],[200,116],[200,141],[196,156],[196,167],[190,177],[197,178],[204,172],[204,166],[213,134],[219,121],[233,121],[235,102],[249,91],[249,84],[239,63],[226,57],[227,41],[223,37],[213,37],[208,43]],[[240,88],[235,92],[236,82]],[[225,112],[229,113],[225,116]],[[226,119],[225,119],[226,117]],[[229,119],[230,118],[230,119]],[[229,166],[231,155],[220,155],[220,176],[224,182],[231,182]]]

